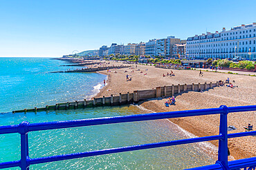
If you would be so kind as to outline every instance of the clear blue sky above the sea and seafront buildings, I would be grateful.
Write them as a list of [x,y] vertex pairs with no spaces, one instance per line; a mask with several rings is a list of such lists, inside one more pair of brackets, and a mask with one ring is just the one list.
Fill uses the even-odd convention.
[[256,22],[256,1],[0,1],[0,56],[62,56]]

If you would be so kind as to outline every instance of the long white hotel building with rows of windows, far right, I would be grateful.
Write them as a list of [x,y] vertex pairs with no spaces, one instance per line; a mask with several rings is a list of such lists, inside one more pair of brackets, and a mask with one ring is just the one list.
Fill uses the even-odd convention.
[[256,23],[241,25],[231,30],[189,37],[186,56],[194,59],[256,58]]

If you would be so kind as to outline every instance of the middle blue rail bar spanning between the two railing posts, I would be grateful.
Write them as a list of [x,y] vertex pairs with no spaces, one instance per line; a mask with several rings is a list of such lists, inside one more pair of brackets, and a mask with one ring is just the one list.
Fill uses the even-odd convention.
[[194,142],[205,142],[210,140],[219,140],[222,136],[206,136],[201,138],[189,138],[189,139],[183,139],[183,140],[172,140],[172,141],[166,141],[166,142],[156,142],[156,143],[149,143],[149,144],[143,144],[143,145],[133,145],[128,147],[117,147],[117,148],[111,148],[111,149],[102,149],[98,151],[86,151],[82,153],[70,153],[60,156],[47,156],[42,158],[31,158],[29,160],[29,164],[39,164],[39,163],[45,163],[45,162],[55,162],[59,160],[69,160],[69,159],[75,159],[75,158],[84,158],[89,156],[100,156],[110,153],[120,153],[125,151],[136,151],[136,150],[142,150],[142,149],[152,149],[157,147],[170,147],[173,145],[183,145],[183,144],[189,144]]

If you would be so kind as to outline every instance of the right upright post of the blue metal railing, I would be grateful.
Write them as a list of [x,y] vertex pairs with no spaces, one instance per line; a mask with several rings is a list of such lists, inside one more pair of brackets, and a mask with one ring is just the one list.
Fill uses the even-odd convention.
[[219,151],[217,163],[221,164],[224,169],[228,169],[228,107],[221,105],[224,113],[220,115],[219,135],[223,138],[219,140]]

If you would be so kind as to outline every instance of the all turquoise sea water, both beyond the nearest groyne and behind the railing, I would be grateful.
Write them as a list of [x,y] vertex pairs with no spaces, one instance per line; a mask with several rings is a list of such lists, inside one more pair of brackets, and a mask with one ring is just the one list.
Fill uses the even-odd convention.
[[[17,60],[17,61],[16,61]],[[11,114],[13,109],[80,100],[91,96],[104,75],[48,74],[66,70],[63,61],[0,58],[0,125],[144,114],[130,105]],[[2,69],[4,68],[4,69]],[[69,67],[68,67],[69,69]],[[96,87],[96,88],[95,88]],[[8,112],[8,113],[3,113]],[[188,138],[168,120],[35,131],[28,134],[30,158]],[[0,135],[0,162],[19,160],[19,134]],[[30,169],[185,169],[212,164],[201,145],[181,145],[31,165]],[[18,168],[13,168],[18,169]]]

